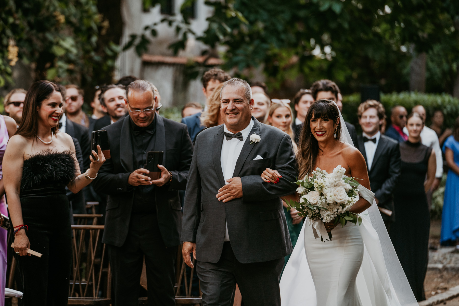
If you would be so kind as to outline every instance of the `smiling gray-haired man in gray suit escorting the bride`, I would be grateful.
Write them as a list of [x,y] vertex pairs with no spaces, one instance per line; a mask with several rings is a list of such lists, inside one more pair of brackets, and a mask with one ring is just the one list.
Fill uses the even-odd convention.
[[[236,283],[245,305],[279,305],[284,256],[292,251],[282,202],[295,192],[291,138],[252,116],[252,91],[241,79],[220,93],[224,125],[203,130],[185,192],[182,255],[197,260],[203,306],[229,306]],[[267,167],[277,183],[261,178]]]

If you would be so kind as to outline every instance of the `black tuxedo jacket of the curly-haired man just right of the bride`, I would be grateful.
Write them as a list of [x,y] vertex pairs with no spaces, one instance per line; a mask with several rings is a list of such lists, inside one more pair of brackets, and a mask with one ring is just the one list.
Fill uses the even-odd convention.
[[[367,153],[365,152],[364,139],[362,135],[357,136],[358,148],[365,158],[368,169]],[[400,176],[400,149],[398,142],[390,137],[381,134],[376,147],[375,157],[368,171],[371,191],[375,193],[375,198],[379,200],[378,206],[392,210],[389,217],[381,213],[384,221],[395,221],[394,203],[392,191],[394,190],[398,177]]]

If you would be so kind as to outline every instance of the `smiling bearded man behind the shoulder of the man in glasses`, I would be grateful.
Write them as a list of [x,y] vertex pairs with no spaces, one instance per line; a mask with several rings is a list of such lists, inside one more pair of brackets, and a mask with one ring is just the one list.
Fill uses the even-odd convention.
[[105,126],[111,125],[123,118],[127,109],[124,100],[126,99],[126,91],[123,85],[106,85],[101,88],[99,101],[102,109],[107,113],[101,119],[97,119],[94,124],[94,130],[102,130]]

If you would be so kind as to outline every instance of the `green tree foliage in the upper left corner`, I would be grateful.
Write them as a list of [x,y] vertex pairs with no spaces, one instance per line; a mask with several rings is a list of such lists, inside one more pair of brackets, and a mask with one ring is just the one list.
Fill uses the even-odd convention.
[[35,79],[83,87],[111,81],[119,47],[100,40],[110,22],[96,0],[0,0],[0,7],[0,86],[12,81],[17,60],[31,65]]

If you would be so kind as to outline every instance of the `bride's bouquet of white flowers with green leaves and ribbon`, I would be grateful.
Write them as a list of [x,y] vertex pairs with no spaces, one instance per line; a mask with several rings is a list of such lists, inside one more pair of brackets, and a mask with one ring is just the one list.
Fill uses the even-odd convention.
[[[312,177],[308,173],[304,180],[297,181],[300,202],[290,200],[288,203],[291,208],[298,210],[298,215],[309,217],[309,222],[314,222],[314,236],[319,238],[318,229],[322,233],[322,241],[326,232],[323,223],[335,221],[334,224],[340,223],[342,227],[347,221],[354,224],[358,222],[359,225],[362,223],[362,218],[349,211],[358,200],[359,183],[355,178],[345,176],[345,172],[346,169],[341,165],[336,166],[332,173],[317,168]],[[328,237],[330,240],[333,238],[331,232],[328,232]]]

